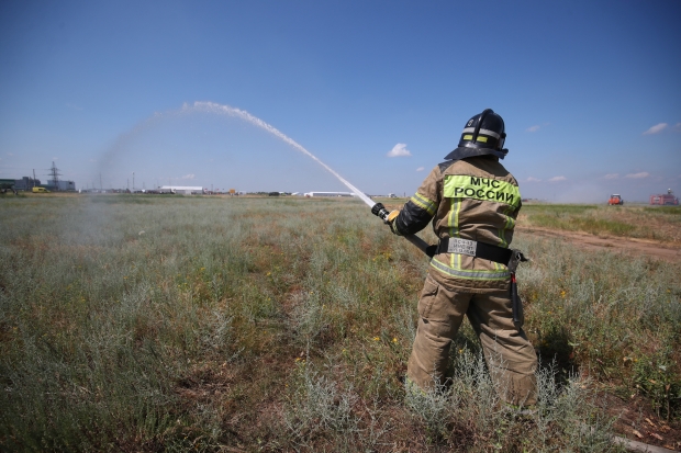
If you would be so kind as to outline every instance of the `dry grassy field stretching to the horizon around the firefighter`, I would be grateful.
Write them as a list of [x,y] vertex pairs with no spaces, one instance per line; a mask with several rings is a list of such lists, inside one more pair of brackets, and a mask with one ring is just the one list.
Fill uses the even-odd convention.
[[[679,222],[614,209],[524,212],[634,236]],[[652,417],[659,444],[679,428],[680,263],[518,234],[543,364],[538,410],[518,416],[468,324],[454,390],[405,395],[427,261],[359,202],[5,196],[0,213],[3,451],[621,451],[606,395],[638,404],[644,435]]]

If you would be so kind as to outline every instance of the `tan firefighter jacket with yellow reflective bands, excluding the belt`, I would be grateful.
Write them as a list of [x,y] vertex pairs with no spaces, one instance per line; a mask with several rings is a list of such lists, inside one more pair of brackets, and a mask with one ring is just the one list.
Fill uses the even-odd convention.
[[[398,234],[410,235],[433,220],[438,238],[456,237],[507,248],[521,209],[517,181],[493,157],[446,161],[435,167],[395,219]],[[493,261],[439,253],[431,267],[467,287],[507,287],[509,270]]]

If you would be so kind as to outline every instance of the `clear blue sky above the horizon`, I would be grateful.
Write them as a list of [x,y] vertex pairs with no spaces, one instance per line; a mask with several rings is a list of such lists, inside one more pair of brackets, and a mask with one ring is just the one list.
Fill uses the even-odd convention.
[[[0,2],[0,178],[413,193],[491,107],[525,197],[681,193],[681,2]],[[390,157],[395,150],[398,156]],[[401,151],[401,152],[398,152]],[[109,180],[109,181],[105,181]]]

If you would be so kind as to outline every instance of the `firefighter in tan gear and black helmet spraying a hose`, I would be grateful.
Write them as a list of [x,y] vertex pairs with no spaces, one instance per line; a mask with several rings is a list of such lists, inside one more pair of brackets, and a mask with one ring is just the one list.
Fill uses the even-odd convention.
[[408,385],[446,385],[449,349],[466,315],[500,397],[529,406],[536,403],[537,356],[522,329],[515,292],[522,253],[509,249],[521,194],[515,178],[499,162],[509,152],[505,137],[503,118],[491,109],[471,117],[458,147],[388,223],[402,236],[432,219],[439,238],[418,299]]

